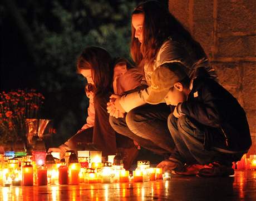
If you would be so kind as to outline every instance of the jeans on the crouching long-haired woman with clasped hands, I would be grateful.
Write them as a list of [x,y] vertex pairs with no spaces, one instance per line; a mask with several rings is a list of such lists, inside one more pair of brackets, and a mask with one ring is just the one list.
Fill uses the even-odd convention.
[[169,114],[170,107],[165,103],[145,104],[130,110],[125,118],[110,117],[110,125],[145,149],[156,154],[170,154],[174,142],[166,122]]

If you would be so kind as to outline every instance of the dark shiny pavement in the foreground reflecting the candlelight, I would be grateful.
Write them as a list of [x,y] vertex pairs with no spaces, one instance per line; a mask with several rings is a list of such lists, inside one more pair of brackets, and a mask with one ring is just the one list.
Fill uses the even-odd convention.
[[144,183],[0,187],[0,200],[256,200],[256,170],[234,177],[198,178],[173,175]]

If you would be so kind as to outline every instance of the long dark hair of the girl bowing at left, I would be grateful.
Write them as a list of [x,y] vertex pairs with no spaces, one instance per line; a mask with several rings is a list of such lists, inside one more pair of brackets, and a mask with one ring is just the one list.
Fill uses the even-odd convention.
[[77,59],[78,72],[91,69],[95,93],[112,91],[113,68],[112,57],[104,48],[87,47]]

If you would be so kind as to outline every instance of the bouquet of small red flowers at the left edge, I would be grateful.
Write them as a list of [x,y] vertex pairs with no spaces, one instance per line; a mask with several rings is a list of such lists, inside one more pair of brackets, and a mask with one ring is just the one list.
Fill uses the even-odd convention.
[[26,142],[26,119],[38,119],[43,99],[35,89],[0,93],[0,145]]

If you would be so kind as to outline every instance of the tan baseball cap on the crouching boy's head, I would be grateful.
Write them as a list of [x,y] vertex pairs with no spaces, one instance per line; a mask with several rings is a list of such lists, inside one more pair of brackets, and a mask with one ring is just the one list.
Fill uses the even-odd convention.
[[185,66],[181,63],[164,63],[152,73],[150,95],[146,102],[150,104],[159,104],[164,102],[164,98],[169,89],[174,86],[175,83],[186,81],[190,79],[185,73]]

